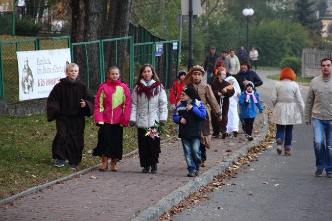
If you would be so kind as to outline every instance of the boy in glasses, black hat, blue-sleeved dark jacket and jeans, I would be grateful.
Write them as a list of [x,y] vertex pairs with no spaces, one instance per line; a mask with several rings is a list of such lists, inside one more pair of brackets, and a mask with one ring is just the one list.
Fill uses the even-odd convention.
[[179,137],[182,141],[185,161],[189,173],[187,177],[199,175],[201,165],[201,151],[199,150],[202,131],[201,120],[206,117],[203,103],[195,97],[194,87],[185,87],[181,93],[181,100],[175,109],[173,120],[179,124]]

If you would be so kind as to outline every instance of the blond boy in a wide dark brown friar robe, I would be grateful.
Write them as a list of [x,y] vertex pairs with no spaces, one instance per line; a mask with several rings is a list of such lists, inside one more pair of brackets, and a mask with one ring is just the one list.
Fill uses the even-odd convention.
[[74,170],[82,160],[85,116],[91,116],[94,109],[94,96],[77,78],[78,73],[77,64],[68,64],[67,77],[54,86],[47,101],[48,122],[56,120],[57,128],[52,143],[54,166],[64,166],[67,159]]

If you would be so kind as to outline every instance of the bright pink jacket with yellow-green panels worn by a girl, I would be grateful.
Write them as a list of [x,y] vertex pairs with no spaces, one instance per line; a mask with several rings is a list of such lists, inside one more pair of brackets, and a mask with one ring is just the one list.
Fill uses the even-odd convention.
[[131,112],[131,97],[128,85],[121,79],[112,81],[107,78],[97,92],[94,105],[96,125],[118,124],[128,127]]

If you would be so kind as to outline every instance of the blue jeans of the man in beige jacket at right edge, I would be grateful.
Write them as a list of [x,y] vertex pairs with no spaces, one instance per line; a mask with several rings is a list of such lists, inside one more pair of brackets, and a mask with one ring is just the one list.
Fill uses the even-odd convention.
[[317,169],[325,168],[326,173],[332,173],[332,120],[313,118],[313,128]]

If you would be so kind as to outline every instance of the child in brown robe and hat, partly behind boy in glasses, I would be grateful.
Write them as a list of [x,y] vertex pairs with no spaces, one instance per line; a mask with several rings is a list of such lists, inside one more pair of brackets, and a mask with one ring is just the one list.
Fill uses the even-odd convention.
[[[194,98],[203,102],[203,105],[207,112],[206,119],[202,121],[202,138],[200,139],[200,150],[202,153],[201,167],[206,166],[206,148],[210,148],[211,145],[210,112],[216,114],[218,120],[221,120],[221,111],[217,103],[216,97],[212,93],[210,85],[201,81],[204,74],[204,68],[199,65],[195,65],[187,72],[187,75],[183,80],[183,84],[187,85],[188,87],[194,87],[196,89],[197,97]],[[210,106],[211,111],[208,105]]]

